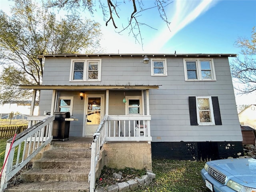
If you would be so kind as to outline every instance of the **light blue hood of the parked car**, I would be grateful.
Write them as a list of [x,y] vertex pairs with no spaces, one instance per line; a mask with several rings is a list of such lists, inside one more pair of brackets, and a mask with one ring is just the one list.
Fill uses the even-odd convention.
[[[256,159],[222,159],[210,161],[210,166],[221,168],[223,174],[235,182],[241,180],[245,186],[256,188]],[[249,185],[248,185],[249,184]]]

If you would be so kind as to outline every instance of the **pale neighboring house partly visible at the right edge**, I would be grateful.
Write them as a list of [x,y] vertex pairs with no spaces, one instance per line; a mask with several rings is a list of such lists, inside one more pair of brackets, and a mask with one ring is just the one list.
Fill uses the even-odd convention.
[[250,105],[238,114],[241,125],[248,125],[256,129],[256,105]]

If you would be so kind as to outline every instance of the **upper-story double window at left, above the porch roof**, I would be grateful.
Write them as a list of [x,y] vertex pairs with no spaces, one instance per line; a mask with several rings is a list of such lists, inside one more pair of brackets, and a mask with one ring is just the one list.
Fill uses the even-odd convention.
[[100,81],[101,60],[71,60],[70,81]]

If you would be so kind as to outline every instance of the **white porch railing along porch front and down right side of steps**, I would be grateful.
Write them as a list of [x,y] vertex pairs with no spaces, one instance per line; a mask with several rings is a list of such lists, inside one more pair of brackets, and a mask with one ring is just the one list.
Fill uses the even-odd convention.
[[128,116],[128,115],[105,115],[94,133],[91,145],[91,169],[88,176],[90,192],[95,188],[95,172],[100,149],[108,141],[152,141],[150,136],[150,115]]

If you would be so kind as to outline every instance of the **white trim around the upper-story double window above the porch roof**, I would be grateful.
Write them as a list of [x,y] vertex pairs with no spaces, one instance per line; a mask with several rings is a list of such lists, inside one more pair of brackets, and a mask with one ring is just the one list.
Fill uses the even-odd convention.
[[[88,79],[88,65],[89,62],[98,61],[98,79]],[[84,62],[84,71],[83,71],[83,79],[74,79],[74,63],[75,62]],[[70,64],[70,82],[83,82],[83,81],[101,81],[101,59],[72,59]]]

